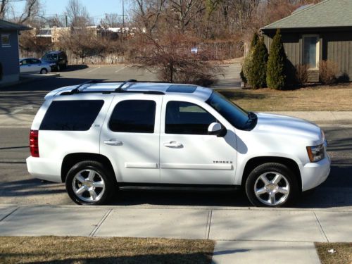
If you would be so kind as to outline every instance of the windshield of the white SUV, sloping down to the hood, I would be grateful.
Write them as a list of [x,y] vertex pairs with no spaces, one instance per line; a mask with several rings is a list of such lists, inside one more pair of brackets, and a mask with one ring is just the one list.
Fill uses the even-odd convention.
[[257,118],[254,113],[244,111],[218,92],[214,91],[206,103],[239,130],[252,130],[256,126]]

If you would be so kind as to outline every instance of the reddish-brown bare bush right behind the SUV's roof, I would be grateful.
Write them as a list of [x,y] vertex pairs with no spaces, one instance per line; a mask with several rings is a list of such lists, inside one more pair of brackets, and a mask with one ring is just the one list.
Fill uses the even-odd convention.
[[198,41],[194,37],[169,30],[158,39],[149,34],[140,34],[138,39],[134,49],[143,52],[132,60],[134,66],[156,73],[163,81],[208,86],[220,75],[219,65],[208,59],[208,50],[191,52]]

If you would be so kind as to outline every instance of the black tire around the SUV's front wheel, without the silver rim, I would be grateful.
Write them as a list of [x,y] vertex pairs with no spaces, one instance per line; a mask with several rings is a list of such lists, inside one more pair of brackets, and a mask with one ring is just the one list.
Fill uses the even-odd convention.
[[[254,184],[256,183],[256,180],[258,180],[258,177],[262,175],[265,172],[278,172],[284,177],[286,177],[287,181],[289,182],[289,196],[287,197],[287,200],[284,201],[284,203],[280,203],[277,206],[268,206],[264,203],[262,203],[254,194]],[[254,206],[258,207],[287,207],[293,204],[298,196],[298,182],[296,180],[296,177],[294,176],[294,173],[287,168],[286,165],[283,165],[281,163],[264,163],[262,165],[258,165],[252,172],[249,174],[249,177],[246,179],[246,195],[251,201],[251,203]]]

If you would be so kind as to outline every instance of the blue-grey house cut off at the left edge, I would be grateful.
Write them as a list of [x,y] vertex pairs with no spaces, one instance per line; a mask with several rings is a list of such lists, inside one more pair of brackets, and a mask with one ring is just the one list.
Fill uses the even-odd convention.
[[0,85],[17,82],[20,74],[18,34],[30,27],[0,20]]

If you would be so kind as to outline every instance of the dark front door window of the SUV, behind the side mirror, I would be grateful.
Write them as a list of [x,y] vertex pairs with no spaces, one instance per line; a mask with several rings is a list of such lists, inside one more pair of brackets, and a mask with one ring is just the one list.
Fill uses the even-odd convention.
[[165,133],[208,134],[208,127],[217,120],[194,103],[170,101],[166,105]]

